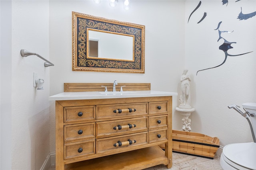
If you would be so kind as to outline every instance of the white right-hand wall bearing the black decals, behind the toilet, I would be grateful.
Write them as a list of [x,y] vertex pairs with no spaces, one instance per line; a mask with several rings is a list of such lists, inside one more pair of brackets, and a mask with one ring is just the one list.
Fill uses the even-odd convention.
[[[227,106],[246,102],[256,102],[256,17],[238,20],[238,14],[256,11],[256,1],[202,1],[200,8],[188,17],[198,5],[198,1],[186,1],[185,8],[185,66],[188,68],[191,83],[192,131],[220,139],[220,145],[229,143],[252,142],[252,135],[247,120],[234,109]],[[207,12],[206,18],[197,23]],[[246,55],[228,56],[226,63],[217,68],[196,72],[217,66],[224,61],[225,54],[219,50],[223,39],[217,42],[218,23],[222,33],[233,49],[231,55],[253,51]],[[241,108],[242,109],[242,108]],[[242,109],[243,111],[243,109]]]

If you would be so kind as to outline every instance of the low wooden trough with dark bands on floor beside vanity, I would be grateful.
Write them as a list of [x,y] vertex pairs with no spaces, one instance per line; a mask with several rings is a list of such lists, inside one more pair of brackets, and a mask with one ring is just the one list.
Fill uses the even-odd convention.
[[213,159],[220,147],[217,137],[200,133],[172,130],[172,151]]

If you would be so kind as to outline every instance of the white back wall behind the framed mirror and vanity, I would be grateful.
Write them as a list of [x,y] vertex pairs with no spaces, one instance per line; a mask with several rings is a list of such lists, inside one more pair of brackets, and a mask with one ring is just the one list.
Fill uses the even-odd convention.
[[[145,74],[72,71],[72,11],[145,25]],[[50,72],[50,95],[63,92],[66,82],[112,83],[114,80],[151,83],[152,90],[177,92],[184,69],[184,2],[136,0],[126,11],[120,2],[112,8],[107,1],[100,4],[84,0],[50,1],[50,59],[55,64]],[[54,152],[54,102],[50,110],[50,145]]]

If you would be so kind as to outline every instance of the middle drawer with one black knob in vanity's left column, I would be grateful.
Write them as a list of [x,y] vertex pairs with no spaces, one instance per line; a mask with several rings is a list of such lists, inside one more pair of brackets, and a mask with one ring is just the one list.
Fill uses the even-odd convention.
[[64,125],[64,142],[95,139],[95,123]]

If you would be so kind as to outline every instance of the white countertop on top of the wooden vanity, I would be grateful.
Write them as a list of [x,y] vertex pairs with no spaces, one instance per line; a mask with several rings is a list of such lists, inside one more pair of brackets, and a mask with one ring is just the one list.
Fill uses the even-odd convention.
[[124,92],[62,92],[49,97],[49,100],[86,100],[86,99],[112,99],[112,98],[140,98],[158,96],[177,96],[174,92],[161,92],[154,90],[124,91]]

